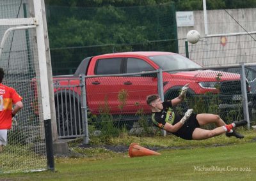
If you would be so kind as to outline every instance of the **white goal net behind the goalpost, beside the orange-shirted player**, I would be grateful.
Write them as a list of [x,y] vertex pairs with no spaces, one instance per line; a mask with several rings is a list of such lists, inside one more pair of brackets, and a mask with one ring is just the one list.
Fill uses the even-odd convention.
[[29,25],[24,21],[31,8],[28,2],[0,1],[0,41],[5,36],[0,55],[3,84],[13,87],[24,105],[8,130],[7,145],[0,153],[0,173],[47,169],[37,34],[35,28],[13,29],[6,36],[11,27]]

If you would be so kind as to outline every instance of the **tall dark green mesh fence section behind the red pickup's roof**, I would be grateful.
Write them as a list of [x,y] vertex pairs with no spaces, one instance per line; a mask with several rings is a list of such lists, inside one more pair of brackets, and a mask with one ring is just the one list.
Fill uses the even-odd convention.
[[143,50],[177,52],[173,3],[46,9],[54,75],[74,73],[81,60],[92,55]]

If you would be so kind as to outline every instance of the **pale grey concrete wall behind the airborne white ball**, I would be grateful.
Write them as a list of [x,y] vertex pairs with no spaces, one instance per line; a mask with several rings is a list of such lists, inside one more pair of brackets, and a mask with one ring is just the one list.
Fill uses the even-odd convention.
[[[232,15],[228,15],[228,13]],[[256,9],[207,10],[208,35],[245,33],[244,35],[207,37],[204,27],[204,11],[193,11],[194,26],[177,27],[179,53],[186,55],[185,41],[189,30],[200,33],[200,41],[188,43],[189,58],[202,66],[227,66],[256,62]],[[235,19],[235,20],[234,20]],[[237,22],[236,22],[237,21]],[[244,30],[246,29],[246,31]]]

